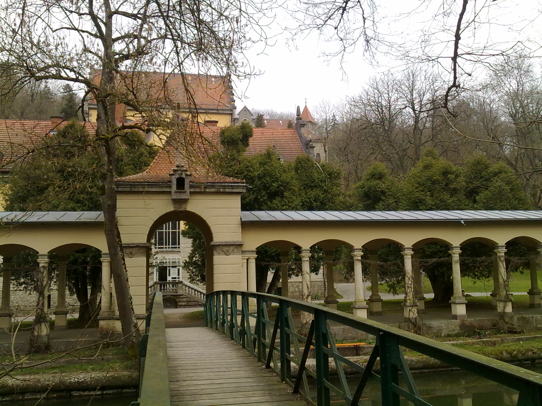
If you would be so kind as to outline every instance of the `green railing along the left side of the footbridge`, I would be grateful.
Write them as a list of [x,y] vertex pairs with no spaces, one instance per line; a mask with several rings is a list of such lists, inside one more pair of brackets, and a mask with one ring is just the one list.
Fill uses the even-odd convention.
[[139,344],[139,400],[133,406],[170,406],[162,292],[154,293]]

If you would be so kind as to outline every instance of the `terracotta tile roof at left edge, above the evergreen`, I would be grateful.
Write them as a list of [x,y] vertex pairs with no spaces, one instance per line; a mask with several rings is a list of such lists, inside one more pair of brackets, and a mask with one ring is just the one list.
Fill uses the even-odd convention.
[[[8,172],[16,162],[30,156],[51,131],[64,127],[68,121],[0,120],[0,171]],[[95,123],[81,123],[94,135]]]

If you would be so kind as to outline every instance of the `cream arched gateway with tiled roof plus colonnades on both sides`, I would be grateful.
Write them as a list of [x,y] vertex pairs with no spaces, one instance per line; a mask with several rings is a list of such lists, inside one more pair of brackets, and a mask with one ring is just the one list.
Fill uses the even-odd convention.
[[[203,169],[191,172],[175,166],[178,157],[162,150],[144,173],[122,178],[117,183],[117,220],[124,245],[126,266],[135,313],[143,317],[149,303],[149,256],[153,233],[164,222],[182,220],[199,228],[207,245],[207,292],[215,290],[255,290],[255,250],[262,244],[275,246],[281,262],[293,246],[301,249],[304,297],[310,293],[310,251],[320,246],[331,263],[338,245],[352,248],[356,298],[354,314],[367,317],[382,312],[377,270],[364,270],[364,252],[374,259],[384,244],[402,247],[405,270],[404,316],[412,319],[423,310],[420,266],[416,258],[424,244],[438,241],[449,246],[453,264],[454,292],[451,316],[467,317],[466,300],[461,293],[459,258],[464,244],[478,241],[494,252],[496,309],[510,312],[506,294],[505,252],[509,241],[517,240],[530,251],[530,304],[540,307],[537,272],[542,247],[542,211],[434,211],[434,212],[241,212],[241,195],[247,185],[241,180],[214,175]],[[0,255],[9,270],[10,256],[23,249],[35,250],[40,266],[47,270],[48,255],[66,253],[81,247],[102,252],[102,312],[100,331],[120,331],[111,289],[103,217],[99,212],[0,213],[5,225],[0,236]],[[282,267],[283,271],[286,266]],[[333,286],[333,266],[327,265],[328,284]],[[373,290],[366,298],[363,273],[370,273]],[[286,275],[286,272],[283,272]],[[59,283],[62,281],[59,280]],[[9,272],[3,272],[2,326],[10,323]],[[375,288],[376,286],[376,288]],[[286,287],[286,286],[285,286]],[[287,289],[282,289],[287,294]],[[60,294],[60,289],[59,289]],[[368,295],[367,295],[368,296]],[[367,300],[368,299],[368,300]],[[326,303],[336,302],[329,294]],[[60,309],[61,315],[63,309]],[[64,313],[65,314],[65,313]]]

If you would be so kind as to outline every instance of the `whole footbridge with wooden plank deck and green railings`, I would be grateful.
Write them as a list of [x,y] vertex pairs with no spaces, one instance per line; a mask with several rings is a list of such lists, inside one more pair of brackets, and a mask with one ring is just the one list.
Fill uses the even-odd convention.
[[[278,304],[274,317],[268,304]],[[304,334],[294,328],[292,311],[312,320]],[[330,322],[375,336],[363,365],[339,355]],[[401,399],[431,406],[403,348],[512,388],[517,406],[542,406],[542,376],[536,372],[326,307],[237,291],[207,295],[205,327],[167,330],[162,294],[155,294],[140,346],[140,397],[133,404],[359,406],[372,379],[380,385],[382,406],[399,406]],[[307,362],[311,349],[315,358]],[[330,363],[336,379],[330,378]],[[347,377],[346,367],[358,374]]]

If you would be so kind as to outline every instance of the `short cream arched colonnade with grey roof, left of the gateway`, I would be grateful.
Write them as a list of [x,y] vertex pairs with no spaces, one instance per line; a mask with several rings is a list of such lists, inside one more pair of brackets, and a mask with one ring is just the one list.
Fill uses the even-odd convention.
[[36,323],[34,339],[46,337],[49,333],[48,285],[51,255],[57,263],[57,300],[53,314],[55,330],[66,329],[68,309],[66,306],[66,268],[69,253],[82,248],[96,248],[101,251],[102,291],[101,313],[115,312],[114,290],[111,289],[111,267],[104,238],[104,217],[101,212],[35,212],[3,213],[4,230],[0,238],[2,256],[2,299],[0,304],[0,328],[10,328],[16,311],[11,303],[11,274],[13,258],[22,252],[37,254]]

